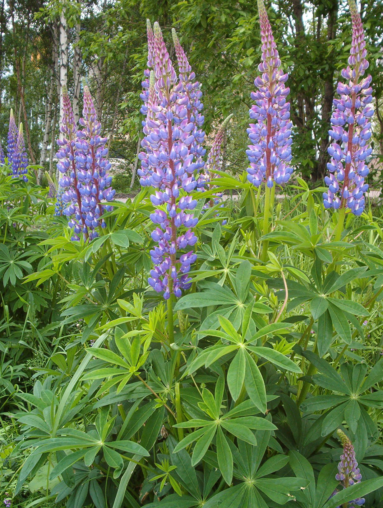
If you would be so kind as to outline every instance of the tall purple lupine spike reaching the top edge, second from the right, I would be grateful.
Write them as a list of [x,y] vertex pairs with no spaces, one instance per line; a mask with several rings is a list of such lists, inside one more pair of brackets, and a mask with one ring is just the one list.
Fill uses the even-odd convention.
[[288,74],[281,69],[276,44],[271,31],[263,0],[258,0],[261,25],[262,61],[258,66],[262,76],[254,84],[258,88],[251,97],[256,104],[250,109],[249,149],[246,151],[250,166],[248,180],[256,187],[263,181],[268,187],[275,183],[286,183],[293,169],[291,161],[290,103],[286,97],[290,89],[285,87]]

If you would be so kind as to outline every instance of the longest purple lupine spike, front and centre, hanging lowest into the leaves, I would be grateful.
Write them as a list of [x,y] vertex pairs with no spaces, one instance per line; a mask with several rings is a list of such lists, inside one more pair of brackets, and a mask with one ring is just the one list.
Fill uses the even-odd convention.
[[[150,34],[148,30],[148,37]],[[151,51],[151,43],[148,46]],[[196,187],[195,154],[198,155],[194,137],[198,132],[196,113],[192,110],[196,103],[192,104],[192,100],[198,101],[200,96],[188,95],[186,85],[178,81],[158,23],[154,24],[153,48],[153,61],[149,55],[148,65],[152,63],[154,70],[150,72],[149,87],[142,94],[145,104],[141,111],[146,120],[138,174],[143,186],[156,189],[151,201],[158,207],[150,216],[156,225],[151,236],[158,246],[150,251],[155,266],[148,282],[168,299],[172,293],[179,298],[182,290],[190,288],[188,272],[197,258],[193,251],[179,251],[197,241],[191,228],[198,219],[189,212],[197,204],[190,196]]]

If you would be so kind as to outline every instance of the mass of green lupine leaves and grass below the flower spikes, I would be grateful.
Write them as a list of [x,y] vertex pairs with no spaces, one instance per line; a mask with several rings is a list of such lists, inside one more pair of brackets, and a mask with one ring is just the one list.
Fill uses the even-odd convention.
[[[381,505],[381,209],[347,216],[335,241],[322,189],[298,178],[265,235],[263,196],[246,175],[221,176],[215,192],[240,194],[200,200],[193,285],[170,314],[148,290],[149,190],[115,202],[87,244],[45,190],[1,176],[0,491],[12,506]],[[338,428],[363,480],[329,499]]]

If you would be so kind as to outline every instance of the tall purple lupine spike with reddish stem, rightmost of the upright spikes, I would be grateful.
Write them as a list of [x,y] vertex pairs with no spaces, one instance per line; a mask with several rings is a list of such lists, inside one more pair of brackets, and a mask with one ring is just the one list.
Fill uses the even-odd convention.
[[373,108],[371,76],[363,78],[368,68],[367,50],[362,20],[354,0],[349,0],[353,24],[353,38],[349,65],[342,70],[346,83],[339,81],[334,99],[335,110],[331,117],[329,135],[333,143],[328,149],[331,162],[325,177],[328,191],[323,194],[325,208],[346,208],[361,215],[365,207],[364,193],[368,184],[364,178],[369,169],[366,158],[372,153],[368,140],[371,137]]

